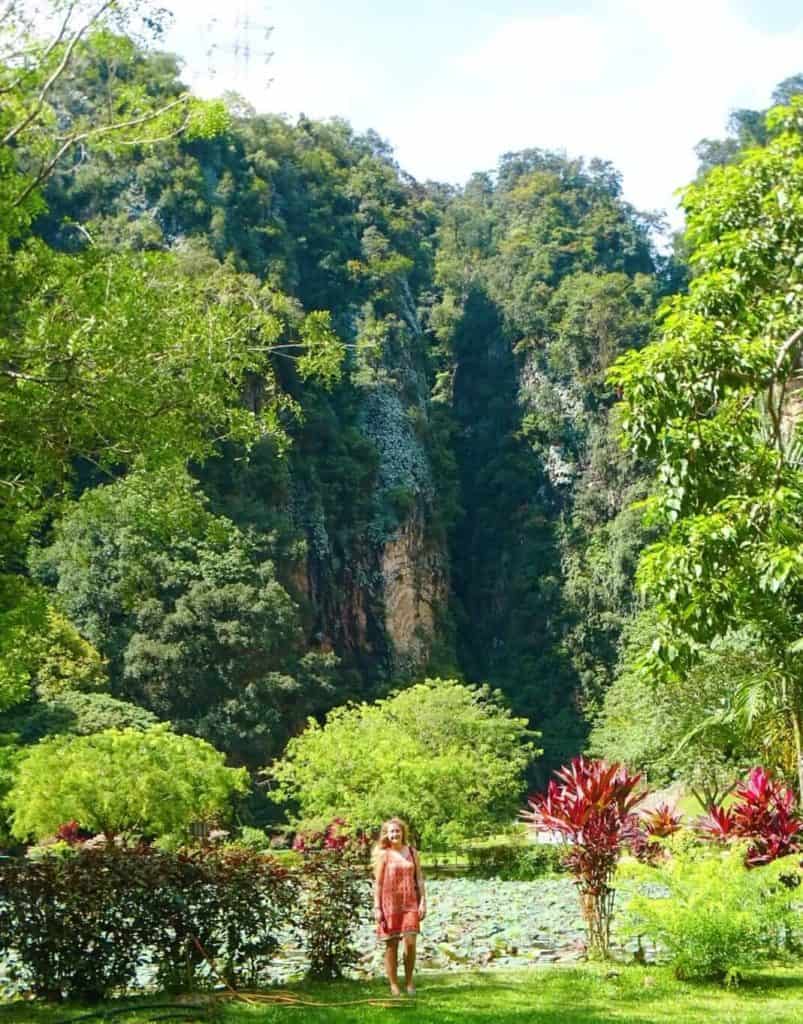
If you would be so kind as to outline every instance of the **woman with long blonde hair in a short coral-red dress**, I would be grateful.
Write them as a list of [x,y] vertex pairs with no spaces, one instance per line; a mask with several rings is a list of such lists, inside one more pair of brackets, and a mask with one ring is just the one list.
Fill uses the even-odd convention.
[[415,995],[416,937],[426,915],[424,876],[400,818],[385,821],[374,847],[374,919],[385,943],[385,973],[392,995],[398,990],[398,943],[405,943],[405,988]]

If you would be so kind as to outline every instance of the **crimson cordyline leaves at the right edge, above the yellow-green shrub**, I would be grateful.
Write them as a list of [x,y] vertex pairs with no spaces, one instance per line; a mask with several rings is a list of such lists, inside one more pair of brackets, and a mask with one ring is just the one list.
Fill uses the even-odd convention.
[[750,840],[745,857],[748,867],[759,867],[803,849],[803,821],[794,794],[761,767],[753,768],[739,782],[727,810],[710,807],[696,826],[706,839]]

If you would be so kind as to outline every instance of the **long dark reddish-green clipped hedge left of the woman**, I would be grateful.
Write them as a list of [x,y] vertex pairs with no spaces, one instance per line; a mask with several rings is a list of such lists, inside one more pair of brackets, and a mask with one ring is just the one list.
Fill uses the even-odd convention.
[[292,914],[297,885],[248,851],[175,855],[58,844],[0,861],[0,961],[11,984],[48,999],[95,1000],[155,968],[172,990],[253,983]]

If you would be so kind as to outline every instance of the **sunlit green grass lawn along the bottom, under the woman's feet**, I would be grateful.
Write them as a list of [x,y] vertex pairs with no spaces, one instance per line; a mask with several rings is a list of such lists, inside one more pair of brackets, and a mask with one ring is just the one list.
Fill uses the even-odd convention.
[[[332,1006],[249,1007],[221,1002],[199,1013],[184,1006],[184,1021],[216,1024],[303,1024],[334,1022],[369,1024],[400,1019],[409,1024],[799,1024],[803,1021],[803,966],[776,968],[747,978],[738,988],[691,985],[675,981],[666,969],[636,967],[552,967],[526,971],[456,972],[424,975],[415,1000],[403,998],[388,1008],[337,1006],[350,999],[383,997],[384,984],[341,982],[296,985],[283,991]],[[152,1024],[169,1010],[147,1010],[132,1000],[130,1014],[105,1018],[116,1024]],[[161,1001],[161,1000],[159,1000]],[[165,1000],[166,1001],[166,1000]],[[116,1009],[118,1004],[107,1004]],[[178,1004],[176,1004],[176,1008]],[[92,1008],[0,1006],[0,1024],[62,1024],[78,1021]],[[173,1018],[178,1020],[176,1016]],[[95,1018],[103,1020],[102,1016]],[[90,1024],[87,1021],[87,1024]],[[94,1022],[92,1022],[94,1024]]]

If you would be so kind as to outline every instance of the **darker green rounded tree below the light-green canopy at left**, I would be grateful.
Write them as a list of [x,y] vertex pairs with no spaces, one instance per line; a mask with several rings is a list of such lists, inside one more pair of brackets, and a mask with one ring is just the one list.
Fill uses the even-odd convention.
[[256,767],[329,707],[336,665],[304,649],[266,548],[177,467],[86,492],[34,566],[109,658],[115,695]]

